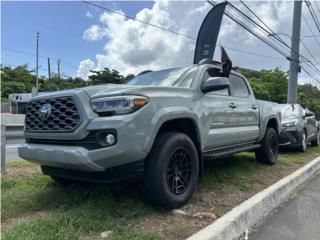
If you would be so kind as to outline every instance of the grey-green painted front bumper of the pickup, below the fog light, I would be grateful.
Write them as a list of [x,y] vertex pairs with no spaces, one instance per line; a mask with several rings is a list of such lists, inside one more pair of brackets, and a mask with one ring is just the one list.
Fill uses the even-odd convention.
[[90,151],[83,147],[29,143],[20,146],[18,153],[41,166],[83,172],[102,172],[146,157],[141,150],[128,151],[119,145]]

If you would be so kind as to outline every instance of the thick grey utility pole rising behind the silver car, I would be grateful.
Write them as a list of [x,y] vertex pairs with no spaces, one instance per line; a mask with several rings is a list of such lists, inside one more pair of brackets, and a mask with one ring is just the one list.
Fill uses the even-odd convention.
[[295,104],[297,102],[297,85],[300,49],[300,30],[301,30],[301,9],[302,1],[294,1],[293,22],[292,22],[292,38],[291,38],[291,56],[290,56],[290,72],[288,84],[288,103]]

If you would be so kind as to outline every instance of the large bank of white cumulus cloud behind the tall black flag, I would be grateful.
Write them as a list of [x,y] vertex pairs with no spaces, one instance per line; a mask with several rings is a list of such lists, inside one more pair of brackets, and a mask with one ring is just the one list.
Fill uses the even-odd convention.
[[[291,34],[293,2],[256,1],[246,3],[275,32]],[[248,13],[240,3],[233,2],[233,4]],[[151,9],[141,9],[135,17],[196,37],[200,24],[210,8],[208,3],[202,1],[157,0]],[[121,12],[121,10],[118,11]],[[254,18],[252,15],[251,17]],[[96,70],[108,67],[116,69],[122,74],[136,74],[145,69],[157,70],[192,64],[195,47],[195,41],[192,39],[108,12],[100,15],[97,24],[99,25],[92,25],[84,32],[84,38],[89,41],[107,39],[104,49],[96,54],[96,63],[94,64]],[[310,34],[304,31],[304,35]],[[290,44],[290,39],[285,37],[283,39]],[[243,51],[281,57],[227,17],[224,17],[218,43]],[[316,46],[312,45],[312,47],[316,49]],[[283,60],[270,60],[231,50],[228,53],[234,65],[256,69],[275,67],[280,67],[283,70],[288,69],[288,61],[284,58]],[[219,58],[219,54],[220,51],[216,50],[215,59]],[[319,55],[317,57],[320,61]],[[91,61],[91,63],[93,62]],[[86,65],[80,64],[81,67],[86,67]],[[79,71],[82,71],[80,68]]]

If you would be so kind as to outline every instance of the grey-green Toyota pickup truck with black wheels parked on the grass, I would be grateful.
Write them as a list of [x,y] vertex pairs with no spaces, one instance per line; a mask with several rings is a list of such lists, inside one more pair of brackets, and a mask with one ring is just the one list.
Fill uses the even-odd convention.
[[57,181],[141,178],[147,199],[170,209],[191,198],[204,157],[250,150],[275,164],[280,130],[278,104],[207,60],[35,97],[19,156]]

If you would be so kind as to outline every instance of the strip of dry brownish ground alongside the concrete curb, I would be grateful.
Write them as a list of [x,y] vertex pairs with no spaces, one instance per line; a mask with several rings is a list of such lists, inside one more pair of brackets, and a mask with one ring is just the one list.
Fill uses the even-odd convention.
[[[304,163],[292,163],[290,165],[279,166],[272,171],[254,173],[251,176],[250,186],[245,190],[223,192],[216,191],[214,188],[210,189],[206,186],[201,186],[200,184],[191,203],[180,209],[186,214],[174,214],[171,211],[160,214],[153,213],[145,217],[136,228],[154,232],[160,239],[185,239],[214,222],[214,220],[212,221],[212,219],[208,218],[192,217],[195,213],[209,212],[219,218],[257,192],[276,183],[311,160],[312,158]],[[228,185],[226,184],[225,187],[227,188]]]

